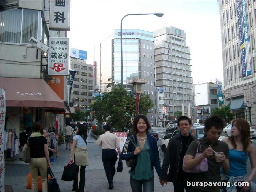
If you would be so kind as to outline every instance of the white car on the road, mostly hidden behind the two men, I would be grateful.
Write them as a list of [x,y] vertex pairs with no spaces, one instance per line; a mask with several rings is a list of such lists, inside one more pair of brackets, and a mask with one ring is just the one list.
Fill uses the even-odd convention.
[[[200,126],[200,127],[192,127],[190,129],[190,133],[196,137],[197,139],[200,139],[202,137],[204,137],[205,133],[204,133],[204,126]],[[172,136],[171,137],[174,137],[175,135],[179,134],[180,133],[180,130],[176,130],[172,133]],[[222,131],[222,134],[219,138],[219,140],[221,141],[223,138],[227,137],[226,134]],[[160,145],[160,148],[161,148],[161,151],[165,154],[166,150],[167,150],[167,146],[168,146],[168,143],[169,143],[169,140],[170,139],[165,139],[165,140],[162,140],[161,142],[161,145]]]

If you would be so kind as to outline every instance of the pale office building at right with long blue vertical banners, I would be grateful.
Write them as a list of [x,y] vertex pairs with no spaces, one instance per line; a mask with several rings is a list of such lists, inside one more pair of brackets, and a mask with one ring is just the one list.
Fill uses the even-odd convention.
[[255,1],[218,1],[224,98],[255,128]]

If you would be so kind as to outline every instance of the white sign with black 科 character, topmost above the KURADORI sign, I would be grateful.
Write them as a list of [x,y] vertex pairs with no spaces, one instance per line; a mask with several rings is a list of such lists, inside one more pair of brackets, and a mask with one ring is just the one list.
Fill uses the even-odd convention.
[[51,1],[50,30],[70,30],[70,1]]

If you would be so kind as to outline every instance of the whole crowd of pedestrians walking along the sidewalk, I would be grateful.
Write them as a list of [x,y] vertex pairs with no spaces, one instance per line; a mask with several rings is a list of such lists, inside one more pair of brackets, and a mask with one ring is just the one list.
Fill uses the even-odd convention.
[[[132,134],[126,139],[122,150],[118,137],[111,133],[111,125],[106,124],[103,127],[105,133],[99,136],[96,144],[102,147],[108,189],[114,188],[115,164],[119,155],[131,167],[128,174],[132,191],[154,191],[154,168],[160,185],[164,187],[172,182],[174,191],[255,191],[255,183],[252,182],[256,174],[255,147],[250,140],[250,125],[247,121],[233,120],[230,137],[222,141],[219,137],[225,121],[220,116],[212,114],[205,120],[205,135],[199,139],[190,133],[190,118],[179,117],[177,126],[180,133],[169,140],[161,165],[157,140],[149,133],[151,125],[145,115],[138,115],[134,119]],[[65,127],[66,150],[69,147],[70,161],[74,160],[79,174],[73,180],[72,191],[84,191],[89,147],[87,133],[91,124],[78,123],[72,127],[69,123]],[[29,145],[32,191],[38,191],[38,170],[41,174],[42,190],[47,191],[49,152],[56,151],[47,145],[46,129],[41,128],[38,122],[32,123],[31,129],[33,133],[27,139],[23,150]],[[248,158],[251,172],[246,176]]]

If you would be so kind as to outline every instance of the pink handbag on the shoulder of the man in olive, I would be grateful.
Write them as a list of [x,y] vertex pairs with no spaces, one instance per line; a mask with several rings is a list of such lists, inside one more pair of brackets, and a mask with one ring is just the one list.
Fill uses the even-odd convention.
[[[196,140],[196,141],[197,141],[197,150],[196,150],[196,156],[194,158],[197,158],[199,155],[202,154],[201,144],[200,144],[200,142],[198,140]],[[199,151],[199,146],[200,146],[200,153],[198,152]],[[183,158],[183,166],[182,166],[182,170],[184,172],[186,172],[186,173],[201,173],[201,172],[208,171],[209,167],[208,167],[208,160],[207,160],[207,158],[204,158],[197,166],[195,166],[192,169],[188,169],[188,170],[186,170],[184,168],[185,158],[186,158],[186,155]]]

